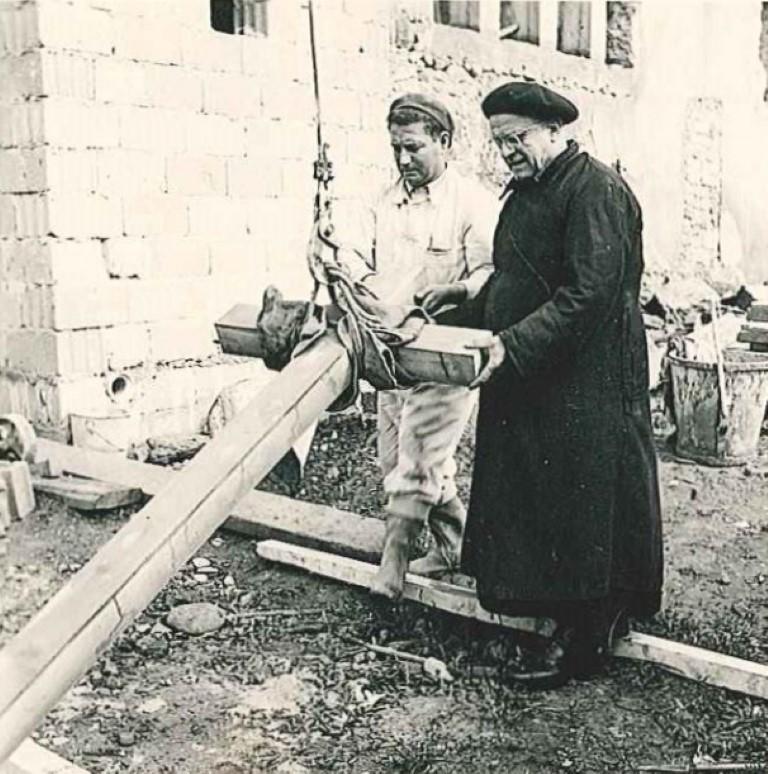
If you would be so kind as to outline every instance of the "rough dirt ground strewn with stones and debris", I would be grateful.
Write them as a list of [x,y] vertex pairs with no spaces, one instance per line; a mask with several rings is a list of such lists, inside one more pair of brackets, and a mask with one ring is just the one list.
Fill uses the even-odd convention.
[[[764,438],[765,442],[766,439]],[[466,496],[469,434],[461,449]],[[644,629],[768,662],[768,443],[747,467],[706,468],[660,447],[666,603]],[[321,424],[302,499],[381,515],[375,426]],[[0,560],[0,645],[129,518],[54,500],[11,531]],[[497,675],[512,638],[415,604],[260,559],[217,533],[207,579],[185,567],[36,739],[92,772],[631,772],[694,756],[768,761],[768,703],[624,660],[588,682],[527,693]],[[199,573],[198,573],[199,575]],[[174,606],[208,601],[225,625],[192,637]],[[442,659],[452,683],[358,641]],[[760,768],[761,771],[768,771]]]

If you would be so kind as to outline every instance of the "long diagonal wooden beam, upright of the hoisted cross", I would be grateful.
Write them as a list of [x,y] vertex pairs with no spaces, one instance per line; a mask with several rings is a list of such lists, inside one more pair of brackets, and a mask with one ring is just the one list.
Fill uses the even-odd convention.
[[0,762],[346,388],[323,337],[291,362],[0,651]]

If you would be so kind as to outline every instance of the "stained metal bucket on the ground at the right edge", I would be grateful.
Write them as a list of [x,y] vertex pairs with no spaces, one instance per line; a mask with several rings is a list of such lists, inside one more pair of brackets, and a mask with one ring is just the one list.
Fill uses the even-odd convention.
[[723,353],[727,412],[721,405],[717,366],[670,355],[680,457],[707,465],[743,465],[757,453],[768,404],[768,354]]

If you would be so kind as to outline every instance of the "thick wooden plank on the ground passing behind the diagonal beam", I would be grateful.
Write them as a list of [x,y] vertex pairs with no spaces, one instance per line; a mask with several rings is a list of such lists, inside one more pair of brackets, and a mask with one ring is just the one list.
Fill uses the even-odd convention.
[[[138,488],[147,495],[157,494],[179,475],[169,468],[43,438],[38,439],[38,456],[51,459],[67,473]],[[384,541],[380,519],[256,490],[240,500],[223,526],[260,540],[275,538],[365,561],[378,561]]]

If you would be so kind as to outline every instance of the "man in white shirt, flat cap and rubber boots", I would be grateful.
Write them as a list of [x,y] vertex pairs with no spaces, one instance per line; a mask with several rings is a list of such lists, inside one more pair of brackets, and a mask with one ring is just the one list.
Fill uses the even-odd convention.
[[[363,237],[339,258],[384,302],[419,303],[428,312],[477,295],[493,271],[498,204],[476,180],[449,165],[454,124],[437,100],[396,99],[387,118],[400,177],[366,213]],[[419,384],[378,394],[379,461],[387,528],[376,594],[396,599],[406,569],[439,575],[458,567],[466,511],[454,455],[472,412],[466,387]],[[411,544],[427,521],[434,538],[411,563]]]

